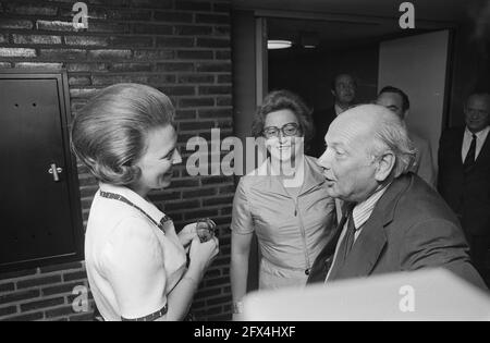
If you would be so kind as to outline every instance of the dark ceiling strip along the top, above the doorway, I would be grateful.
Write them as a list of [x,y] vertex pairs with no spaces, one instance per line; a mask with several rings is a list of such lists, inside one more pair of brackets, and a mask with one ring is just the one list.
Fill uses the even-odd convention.
[[[467,21],[478,11],[485,12],[481,11],[483,4],[489,7],[488,0],[412,0],[416,29],[401,29],[399,19],[403,13],[399,11],[399,5],[402,2],[403,0],[232,0],[234,9],[267,11],[270,39],[293,40],[297,47],[304,33],[314,34],[318,37],[319,47],[327,49],[376,42],[429,28],[446,28]],[[309,19],[297,19],[302,16]]]

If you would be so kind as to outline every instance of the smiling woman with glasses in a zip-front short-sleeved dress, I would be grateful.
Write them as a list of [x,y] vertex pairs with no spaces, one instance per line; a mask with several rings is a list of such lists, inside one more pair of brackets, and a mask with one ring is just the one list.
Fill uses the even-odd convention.
[[260,290],[305,285],[315,258],[332,238],[334,200],[327,194],[316,159],[303,154],[313,131],[309,109],[290,91],[270,93],[257,111],[253,135],[265,139],[268,158],[242,177],[233,201],[231,282],[235,314],[241,313],[246,293],[254,232],[261,255]]

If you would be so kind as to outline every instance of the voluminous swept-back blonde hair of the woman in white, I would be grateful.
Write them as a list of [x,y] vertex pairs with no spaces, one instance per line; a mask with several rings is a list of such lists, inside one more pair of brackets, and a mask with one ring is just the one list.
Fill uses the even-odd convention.
[[161,91],[139,84],[101,89],[75,115],[71,148],[97,180],[128,185],[140,175],[150,130],[173,125],[174,107]]

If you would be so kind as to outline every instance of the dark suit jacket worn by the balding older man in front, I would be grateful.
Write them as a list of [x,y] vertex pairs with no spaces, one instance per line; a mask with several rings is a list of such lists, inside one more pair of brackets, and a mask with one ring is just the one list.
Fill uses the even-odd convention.
[[[324,281],[332,246],[326,246],[315,260],[308,283]],[[408,173],[388,187],[345,265],[329,281],[438,267],[486,289],[470,264],[467,243],[452,210],[427,183]]]

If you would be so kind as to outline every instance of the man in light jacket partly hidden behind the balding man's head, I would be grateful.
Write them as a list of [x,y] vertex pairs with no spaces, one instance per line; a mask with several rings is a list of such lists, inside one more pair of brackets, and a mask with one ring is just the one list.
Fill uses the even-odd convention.
[[[405,91],[396,87],[387,86],[379,93],[376,103],[384,106],[387,109],[399,115],[406,126],[405,120],[411,109],[411,102]],[[432,150],[429,142],[413,132],[408,132],[408,137],[417,149],[411,171],[420,176],[430,186],[436,187],[436,172],[433,169]]]

